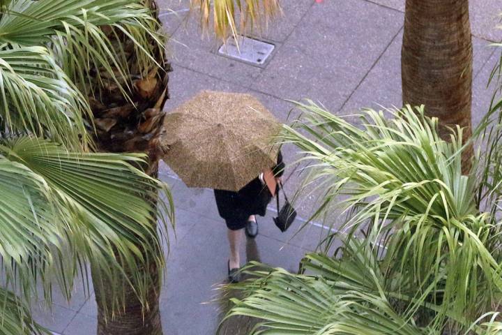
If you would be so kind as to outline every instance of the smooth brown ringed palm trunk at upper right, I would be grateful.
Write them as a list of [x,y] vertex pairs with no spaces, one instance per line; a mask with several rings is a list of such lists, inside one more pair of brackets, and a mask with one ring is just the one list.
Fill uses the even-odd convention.
[[[472,50],[469,0],[406,0],[403,103],[425,105],[427,115],[439,118],[445,140],[455,125],[464,128],[464,142],[472,135]],[[472,156],[471,145],[462,156],[463,172]]]

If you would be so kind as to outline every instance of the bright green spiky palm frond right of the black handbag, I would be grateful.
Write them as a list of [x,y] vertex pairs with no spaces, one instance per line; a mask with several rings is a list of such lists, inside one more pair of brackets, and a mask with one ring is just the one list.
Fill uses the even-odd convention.
[[363,230],[372,246],[383,243],[383,274],[404,276],[396,290],[414,288],[439,304],[432,322],[489,311],[502,290],[500,225],[478,211],[476,174],[462,175],[462,130],[445,142],[437,120],[409,106],[367,110],[361,128],[312,103],[300,107],[305,121],[286,126],[283,140],[317,162],[310,177],[330,185],[323,208],[349,214],[349,240]]

